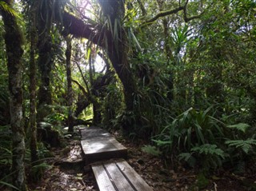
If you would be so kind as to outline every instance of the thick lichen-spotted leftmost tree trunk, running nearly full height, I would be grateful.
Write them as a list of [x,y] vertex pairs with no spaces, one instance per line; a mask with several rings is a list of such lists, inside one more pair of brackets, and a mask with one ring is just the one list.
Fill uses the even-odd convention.
[[[10,6],[11,1],[6,1]],[[6,30],[6,54],[10,90],[10,125],[12,129],[12,171],[13,184],[20,190],[26,190],[25,184],[25,133],[22,122],[22,33],[14,14],[2,9],[2,20]]]

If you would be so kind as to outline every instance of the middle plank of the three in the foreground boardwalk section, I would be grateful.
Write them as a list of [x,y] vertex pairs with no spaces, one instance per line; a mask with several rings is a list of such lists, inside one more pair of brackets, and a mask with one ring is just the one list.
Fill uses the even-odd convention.
[[115,163],[104,162],[103,166],[105,166],[105,170],[110,177],[112,178],[114,185],[118,190],[123,191],[134,191],[130,185],[130,182],[127,181],[126,177],[122,174],[122,172],[118,169],[118,166]]

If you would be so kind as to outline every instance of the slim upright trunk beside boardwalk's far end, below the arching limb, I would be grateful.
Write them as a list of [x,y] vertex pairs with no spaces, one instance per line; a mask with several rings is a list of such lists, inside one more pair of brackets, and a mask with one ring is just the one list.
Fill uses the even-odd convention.
[[73,123],[73,112],[72,112],[72,103],[73,103],[73,91],[72,91],[72,75],[71,75],[71,38],[66,37],[66,82],[67,82],[67,106],[68,106],[68,117],[67,124],[69,126],[68,132],[74,132],[74,123]]

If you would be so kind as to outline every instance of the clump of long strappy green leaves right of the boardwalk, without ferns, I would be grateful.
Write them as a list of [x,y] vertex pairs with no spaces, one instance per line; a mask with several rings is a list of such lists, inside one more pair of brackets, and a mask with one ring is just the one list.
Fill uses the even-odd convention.
[[214,143],[223,134],[222,125],[210,116],[211,107],[205,111],[188,109],[174,118],[162,133],[154,137],[158,146],[164,147],[165,153],[190,151],[195,145]]

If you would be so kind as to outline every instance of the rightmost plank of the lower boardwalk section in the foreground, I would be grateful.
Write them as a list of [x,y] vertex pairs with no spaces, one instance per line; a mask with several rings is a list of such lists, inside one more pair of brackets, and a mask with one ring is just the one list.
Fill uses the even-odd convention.
[[138,191],[153,191],[153,189],[146,183],[146,181],[144,181],[142,177],[139,176],[139,174],[136,173],[136,171],[125,160],[116,160],[116,165]]

